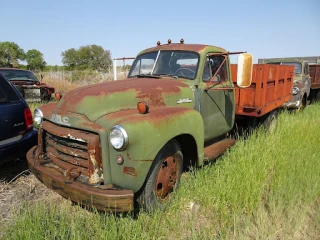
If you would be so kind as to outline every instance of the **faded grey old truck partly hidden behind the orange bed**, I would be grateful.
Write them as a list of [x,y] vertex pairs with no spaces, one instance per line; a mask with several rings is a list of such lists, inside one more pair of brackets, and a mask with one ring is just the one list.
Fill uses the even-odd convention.
[[288,109],[303,109],[307,105],[310,95],[311,78],[309,75],[309,64],[307,61],[292,58],[279,58],[267,60],[267,64],[279,64],[294,66],[294,81],[292,88],[292,98],[283,104]]

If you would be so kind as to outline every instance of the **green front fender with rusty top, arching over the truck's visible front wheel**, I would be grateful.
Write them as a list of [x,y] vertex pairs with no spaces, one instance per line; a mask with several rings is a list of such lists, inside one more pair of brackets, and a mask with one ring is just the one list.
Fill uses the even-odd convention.
[[[137,109],[106,115],[96,121],[108,132],[119,124],[128,133],[129,145],[117,151],[109,144],[112,183],[125,189],[138,191],[148,174],[153,160],[161,148],[181,134],[191,135],[197,145],[198,164],[203,162],[204,127],[201,115],[191,108],[154,107],[147,114]],[[121,155],[124,163],[118,165]]]

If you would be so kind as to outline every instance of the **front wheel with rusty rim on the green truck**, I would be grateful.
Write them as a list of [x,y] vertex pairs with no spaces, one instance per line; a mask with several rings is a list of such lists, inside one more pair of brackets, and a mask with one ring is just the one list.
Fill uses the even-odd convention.
[[176,140],[169,141],[156,156],[147,176],[138,204],[147,212],[163,210],[178,189],[183,156]]

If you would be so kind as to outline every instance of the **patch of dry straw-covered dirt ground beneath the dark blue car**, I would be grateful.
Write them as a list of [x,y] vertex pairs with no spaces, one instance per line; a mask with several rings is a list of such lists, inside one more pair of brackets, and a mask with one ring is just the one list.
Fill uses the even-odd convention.
[[6,225],[13,211],[22,204],[64,201],[46,188],[30,173],[26,160],[9,161],[0,165],[0,224]]

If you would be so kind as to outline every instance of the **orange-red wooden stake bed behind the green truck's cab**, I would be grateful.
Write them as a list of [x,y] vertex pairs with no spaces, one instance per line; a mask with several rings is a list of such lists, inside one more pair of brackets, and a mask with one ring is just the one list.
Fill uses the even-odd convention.
[[294,67],[254,64],[252,84],[248,88],[237,86],[237,64],[231,64],[236,88],[236,114],[261,117],[280,107],[292,97]]

